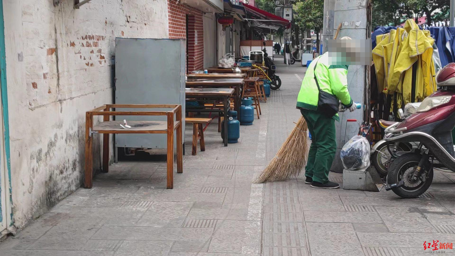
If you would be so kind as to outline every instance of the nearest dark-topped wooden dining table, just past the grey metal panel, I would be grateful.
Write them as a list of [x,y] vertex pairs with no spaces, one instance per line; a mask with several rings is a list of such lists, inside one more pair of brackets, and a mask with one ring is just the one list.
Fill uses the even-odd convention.
[[[242,79],[243,80],[243,79]],[[185,90],[186,98],[192,98],[196,101],[204,99],[222,100],[224,115],[224,146],[227,147],[227,110],[229,109],[229,97],[234,93],[233,88],[187,88]],[[217,112],[213,109],[188,109],[186,112]]]

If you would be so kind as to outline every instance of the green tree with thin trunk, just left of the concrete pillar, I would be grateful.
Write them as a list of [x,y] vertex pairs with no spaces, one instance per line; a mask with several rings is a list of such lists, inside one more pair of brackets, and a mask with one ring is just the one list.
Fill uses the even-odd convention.
[[296,24],[316,33],[316,49],[319,52],[319,33],[324,25],[324,0],[298,0],[293,5]]

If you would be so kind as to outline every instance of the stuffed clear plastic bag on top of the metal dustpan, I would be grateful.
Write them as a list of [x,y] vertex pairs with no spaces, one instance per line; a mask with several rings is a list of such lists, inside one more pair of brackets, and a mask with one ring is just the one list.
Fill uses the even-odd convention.
[[368,168],[370,145],[365,137],[355,135],[341,149],[340,157],[344,169]]

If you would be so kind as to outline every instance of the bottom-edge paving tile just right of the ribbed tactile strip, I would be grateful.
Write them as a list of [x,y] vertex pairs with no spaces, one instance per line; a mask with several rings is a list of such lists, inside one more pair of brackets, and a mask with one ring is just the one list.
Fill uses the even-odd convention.
[[352,224],[306,224],[312,256],[364,256]]

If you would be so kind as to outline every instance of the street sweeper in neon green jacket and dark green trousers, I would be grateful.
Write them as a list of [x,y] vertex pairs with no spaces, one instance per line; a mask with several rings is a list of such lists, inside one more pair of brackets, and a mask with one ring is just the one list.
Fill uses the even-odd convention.
[[[342,39],[350,38],[346,36]],[[348,65],[330,65],[326,52],[311,61],[298,93],[297,108],[312,135],[305,183],[313,188],[339,188],[338,183],[329,181],[329,170],[337,149],[335,120],[339,121],[339,116],[336,110],[335,113],[324,112],[320,104],[331,97],[335,104],[341,102],[339,108],[348,108],[351,112],[356,109],[348,92],[347,76]]]

